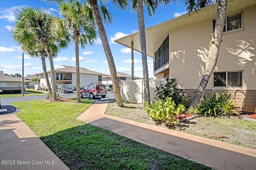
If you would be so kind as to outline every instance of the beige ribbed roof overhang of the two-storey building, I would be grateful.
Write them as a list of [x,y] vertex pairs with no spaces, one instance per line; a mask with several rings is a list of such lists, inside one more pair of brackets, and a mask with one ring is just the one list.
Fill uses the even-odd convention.
[[[227,14],[254,4],[256,4],[256,0],[228,0]],[[217,6],[218,3],[212,4],[198,10],[197,12],[192,12],[190,15],[184,14],[172,20],[158,23],[157,25],[146,28],[145,34],[147,55],[150,57],[154,56],[154,53],[158,50],[164,39],[166,39],[166,37],[169,35],[169,31],[172,29],[177,29],[179,27],[190,25],[206,19],[216,18]],[[129,48],[131,48],[131,41],[133,41],[134,50],[141,52],[139,31],[114,41]]]

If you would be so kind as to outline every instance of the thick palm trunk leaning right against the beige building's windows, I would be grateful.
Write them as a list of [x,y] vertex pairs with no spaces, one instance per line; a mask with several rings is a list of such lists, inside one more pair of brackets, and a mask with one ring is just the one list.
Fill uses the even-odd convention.
[[225,24],[226,18],[226,11],[227,11],[227,0],[219,0],[218,7],[217,7],[217,15],[216,15],[216,24],[214,29],[214,41],[212,43],[211,50],[209,51],[209,58],[206,64],[205,72],[202,77],[202,80],[195,91],[194,98],[190,104],[190,107],[196,108],[200,104],[202,97],[204,95],[206,86],[208,84],[209,78],[212,75],[212,72],[216,66],[220,45],[222,42],[222,34],[223,34],[223,27]]

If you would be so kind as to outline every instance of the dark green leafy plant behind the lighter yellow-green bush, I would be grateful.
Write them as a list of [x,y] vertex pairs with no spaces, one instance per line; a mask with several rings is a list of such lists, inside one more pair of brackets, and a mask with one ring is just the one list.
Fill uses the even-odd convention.
[[176,87],[177,79],[176,78],[165,78],[166,83],[160,84],[160,86],[156,86],[156,90],[154,91],[155,99],[160,100],[163,104],[166,101],[166,98],[172,98],[175,105],[184,104],[189,96],[185,96],[183,89],[179,89]]

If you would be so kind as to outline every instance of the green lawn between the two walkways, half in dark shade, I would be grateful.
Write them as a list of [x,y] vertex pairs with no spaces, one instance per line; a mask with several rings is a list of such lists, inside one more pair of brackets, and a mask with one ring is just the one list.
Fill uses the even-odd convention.
[[75,118],[93,100],[12,103],[16,113],[40,139],[70,168],[90,170],[208,170],[202,164],[154,149]]

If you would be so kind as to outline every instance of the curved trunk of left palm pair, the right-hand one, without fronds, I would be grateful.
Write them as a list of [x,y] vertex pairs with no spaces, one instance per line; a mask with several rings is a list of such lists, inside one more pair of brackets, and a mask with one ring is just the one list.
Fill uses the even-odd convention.
[[55,70],[54,70],[54,64],[52,61],[52,53],[50,51],[48,41],[44,41],[44,47],[46,49],[46,53],[48,55],[48,58],[50,61],[50,67],[51,67],[52,98],[53,98],[53,100],[57,100]]

